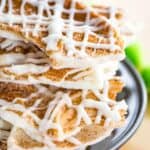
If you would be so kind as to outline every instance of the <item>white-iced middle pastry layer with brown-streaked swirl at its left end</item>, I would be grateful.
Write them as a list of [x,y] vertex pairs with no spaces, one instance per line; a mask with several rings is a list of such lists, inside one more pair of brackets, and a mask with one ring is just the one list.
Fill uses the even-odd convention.
[[[96,87],[102,88],[103,81],[114,75],[118,68],[118,63],[114,61],[95,65],[92,68],[74,68],[68,70],[61,78],[58,78],[58,81],[54,81],[53,77],[44,74],[52,68],[48,57],[43,52],[38,51],[31,45],[9,39],[0,42],[0,47],[2,47],[1,51],[3,52],[0,55],[0,81],[4,82],[43,83],[65,88],[87,89],[89,87],[95,89]],[[21,51],[16,53],[15,49],[17,47],[28,52],[23,53]],[[59,70],[57,72],[59,73]],[[20,78],[24,75],[27,77]],[[19,79],[17,79],[18,76]],[[69,76],[72,76],[72,78],[67,80]]]

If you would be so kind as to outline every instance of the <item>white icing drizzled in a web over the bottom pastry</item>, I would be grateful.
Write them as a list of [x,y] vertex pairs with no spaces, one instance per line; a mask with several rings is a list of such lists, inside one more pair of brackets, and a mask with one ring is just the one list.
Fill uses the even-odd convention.
[[[27,98],[15,98],[12,102],[5,102],[5,100],[0,100],[0,111],[5,110],[17,110],[23,113],[21,118],[26,119],[26,117],[30,116],[38,125],[39,127],[36,128],[36,130],[39,132],[39,135],[42,136],[42,141],[45,144],[49,143],[50,145],[53,145],[53,140],[63,141],[67,140],[75,145],[81,145],[80,141],[78,141],[74,135],[76,135],[80,131],[80,123],[81,119],[85,122],[86,125],[92,124],[91,118],[88,116],[88,113],[86,112],[85,108],[93,108],[97,109],[97,116],[95,118],[95,123],[100,123],[101,117],[105,116],[105,126],[108,126],[109,123],[112,121],[120,121],[120,110],[127,109],[127,105],[124,101],[122,102],[115,102],[113,100],[110,100],[106,94],[100,94],[95,91],[94,93],[97,93],[96,96],[98,97],[99,101],[95,101],[94,99],[87,99],[86,95],[88,94],[87,90],[82,91],[82,102],[79,105],[75,105],[72,103],[72,99],[70,97],[69,91],[62,92],[62,91],[55,91],[55,90],[49,90],[46,87],[43,86],[36,86],[38,89],[37,92],[32,93]],[[105,88],[105,87],[104,87]],[[108,89],[106,87],[106,89]],[[108,91],[107,91],[108,92]],[[17,100],[21,101],[29,101],[34,96],[38,96],[40,94],[46,94],[46,96],[53,97],[50,99],[49,104],[46,108],[46,113],[43,117],[43,119],[40,119],[38,116],[34,114],[35,110],[40,110],[38,108],[39,104],[42,103],[44,100],[43,97],[38,98],[35,100],[35,103],[28,108],[25,108],[25,106],[21,104],[17,104]],[[78,94],[75,94],[73,98],[76,98]],[[104,98],[104,99],[102,99]],[[108,99],[108,100],[107,100]],[[69,108],[73,108],[77,112],[77,120],[74,126],[74,129],[70,131],[69,133],[65,133],[63,131],[63,128],[60,123],[60,119],[57,119],[57,122],[55,121],[55,117],[57,116],[58,112],[61,111],[61,108],[63,106],[68,106]],[[42,108],[41,108],[42,109]],[[28,122],[28,121],[27,121]],[[13,124],[13,122],[11,122]],[[15,126],[17,124],[14,124]],[[29,123],[30,126],[32,124]],[[58,131],[57,137],[51,137],[47,134],[47,131],[49,129],[56,129]],[[28,130],[28,129],[26,129]],[[28,133],[29,135],[31,133]],[[32,136],[33,137],[33,136]],[[53,145],[54,146],[54,145]]]

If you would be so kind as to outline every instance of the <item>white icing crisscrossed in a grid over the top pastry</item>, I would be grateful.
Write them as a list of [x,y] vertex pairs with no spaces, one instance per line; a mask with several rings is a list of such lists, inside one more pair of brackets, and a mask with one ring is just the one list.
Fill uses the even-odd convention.
[[[54,2],[54,5],[49,3]],[[25,6],[29,3],[37,7],[37,14],[33,13],[26,15]],[[1,1],[0,7],[0,22],[8,23],[9,25],[13,24],[22,24],[22,31],[28,36],[29,33],[32,33],[34,36],[38,36],[39,32],[48,31],[48,36],[43,37],[42,41],[46,44],[47,51],[57,51],[58,41],[62,41],[65,48],[67,49],[68,56],[78,56],[85,57],[88,56],[86,53],[86,48],[91,47],[96,49],[108,49],[111,51],[120,50],[120,47],[115,44],[116,39],[114,38],[113,32],[110,31],[109,37],[105,37],[103,34],[97,34],[96,31],[103,30],[106,24],[111,25],[111,19],[104,17],[90,18],[91,8],[85,7],[84,9],[76,9],[77,0],[71,1],[71,8],[65,9],[64,4],[66,0],[22,0],[20,6],[20,15],[15,14],[12,8],[13,1],[9,0],[7,3],[5,0]],[[8,5],[8,13],[4,12],[4,6]],[[53,14],[51,13],[53,11]],[[44,16],[46,11],[47,16]],[[112,11],[113,12],[113,11]],[[69,19],[62,18],[62,13],[69,14]],[[86,19],[84,21],[77,21],[74,19],[75,14],[81,13],[86,14]],[[113,14],[113,13],[111,13]],[[105,25],[99,25],[101,22],[105,22]],[[34,27],[31,27],[30,25]],[[73,39],[73,34],[84,33],[84,38],[82,41],[77,41]],[[62,33],[66,33],[63,35]],[[92,43],[88,41],[88,36],[93,35],[101,41],[102,39],[108,39],[109,43]],[[76,47],[80,47],[78,50]]]

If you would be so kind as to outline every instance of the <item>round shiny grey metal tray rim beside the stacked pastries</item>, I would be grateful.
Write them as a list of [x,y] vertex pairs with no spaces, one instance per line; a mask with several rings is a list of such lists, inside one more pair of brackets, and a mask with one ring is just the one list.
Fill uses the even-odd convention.
[[117,74],[122,76],[126,84],[118,99],[124,98],[128,104],[127,123],[123,128],[115,130],[104,141],[89,147],[90,150],[116,150],[120,148],[136,132],[144,117],[147,96],[139,74],[128,61],[121,63]]

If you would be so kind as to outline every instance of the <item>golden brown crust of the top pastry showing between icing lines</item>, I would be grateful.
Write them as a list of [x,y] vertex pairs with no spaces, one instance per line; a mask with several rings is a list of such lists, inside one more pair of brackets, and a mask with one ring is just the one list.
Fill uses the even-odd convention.
[[[15,14],[20,14],[20,5],[21,5],[21,1],[16,1],[17,4],[13,4],[14,5],[14,10],[15,10]],[[64,7],[66,9],[70,9],[70,5],[71,5],[71,2],[72,0],[66,0],[65,1],[65,4],[64,4]],[[54,3],[50,4],[50,5],[54,5]],[[79,10],[82,10],[82,9],[85,9],[86,6],[84,6],[82,3],[79,3],[79,2],[76,2],[76,9],[79,9]],[[7,12],[7,11],[6,11]],[[35,6],[32,6],[31,4],[26,4],[25,6],[25,12],[26,14],[31,14],[31,13],[37,13],[37,7]],[[45,16],[47,16],[46,14],[44,14]],[[117,16],[119,14],[117,13]],[[66,19],[67,16],[69,16],[69,14],[65,14],[65,13],[62,13],[62,17],[63,19]],[[105,16],[105,15],[104,15]],[[76,21],[85,21],[85,18],[86,18],[86,13],[76,13],[75,14],[75,17],[74,19]],[[91,11],[90,13],[90,18],[100,18],[101,19],[101,15],[98,14],[96,11]],[[118,17],[117,17],[118,18]],[[98,30],[96,31],[95,33],[97,35],[104,35],[104,38],[102,39],[98,39],[98,36],[94,36],[92,34],[89,34],[88,36],[88,42],[90,43],[101,43],[101,44],[108,44],[110,43],[110,39],[108,38],[110,32],[112,33],[114,39],[115,39],[115,44],[120,47],[120,50],[114,50],[114,51],[110,51],[110,49],[94,49],[92,47],[86,47],[85,48],[85,51],[86,53],[90,56],[90,57],[93,57],[93,58],[96,58],[96,57],[101,57],[101,56],[107,56],[107,55],[118,55],[118,54],[123,54],[124,55],[124,51],[123,51],[123,48],[124,48],[124,42],[121,38],[121,36],[117,33],[116,29],[114,29],[111,25],[108,25],[105,21],[102,21],[99,25],[95,26],[95,27],[99,27],[101,25],[104,25],[104,28],[102,30]],[[29,26],[34,26],[35,25],[29,25]],[[14,24],[13,26],[9,26],[8,24],[5,24],[3,22],[0,23],[0,29],[1,30],[4,30],[6,32],[11,32],[11,33],[14,33],[16,35],[18,35],[19,37],[22,37],[24,38],[25,40],[27,41],[31,41],[33,42],[35,45],[37,45],[39,48],[43,49],[43,51],[50,57],[50,61],[51,61],[51,64],[52,66],[59,66],[61,65],[61,62],[59,62],[59,60],[55,60],[56,58],[53,57],[53,54],[60,54],[62,56],[65,56],[67,57],[67,49],[63,43],[63,41],[60,39],[57,46],[58,46],[58,51],[52,51],[51,49],[48,49],[46,50],[47,46],[46,44],[44,43],[44,41],[42,40],[43,37],[47,37],[48,36],[48,31],[39,31],[38,33],[38,36],[35,36],[33,35],[31,32],[28,34],[24,33],[22,30],[23,30],[23,27],[22,25],[20,24]],[[75,41],[83,41],[83,38],[85,36],[85,33],[77,33],[77,32],[74,32],[73,33],[73,39]],[[78,47],[77,49],[81,49],[81,47]],[[74,56],[76,58],[76,56]]]

